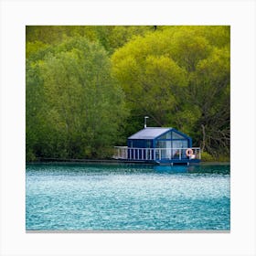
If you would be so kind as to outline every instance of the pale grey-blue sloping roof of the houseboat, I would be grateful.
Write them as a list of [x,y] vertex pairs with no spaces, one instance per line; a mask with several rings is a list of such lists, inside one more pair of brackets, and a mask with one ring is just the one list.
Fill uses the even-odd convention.
[[156,137],[160,136],[163,133],[166,133],[173,128],[162,128],[162,127],[146,127],[143,130],[139,131],[138,133],[134,133],[130,136],[129,140],[153,140]]

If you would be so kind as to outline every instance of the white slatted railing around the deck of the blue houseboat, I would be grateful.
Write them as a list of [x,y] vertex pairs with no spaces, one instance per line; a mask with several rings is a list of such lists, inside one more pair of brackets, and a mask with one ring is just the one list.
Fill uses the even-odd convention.
[[115,146],[114,148],[116,152],[113,158],[115,159],[143,161],[201,159],[199,147],[191,147],[192,151],[189,156],[187,156],[188,148],[137,148],[127,146]]

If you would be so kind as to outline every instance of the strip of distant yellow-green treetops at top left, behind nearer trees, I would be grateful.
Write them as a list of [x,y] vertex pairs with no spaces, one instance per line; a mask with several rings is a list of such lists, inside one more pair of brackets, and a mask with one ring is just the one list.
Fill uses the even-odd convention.
[[[158,28],[160,29],[160,28]],[[27,48],[39,44],[58,45],[71,37],[86,37],[98,42],[111,55],[116,48],[122,47],[135,36],[154,31],[153,26],[27,26]]]

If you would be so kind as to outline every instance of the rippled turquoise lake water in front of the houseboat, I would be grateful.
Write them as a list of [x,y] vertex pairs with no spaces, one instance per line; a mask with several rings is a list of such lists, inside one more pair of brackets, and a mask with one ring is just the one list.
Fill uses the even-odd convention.
[[27,230],[229,230],[229,165],[27,165]]

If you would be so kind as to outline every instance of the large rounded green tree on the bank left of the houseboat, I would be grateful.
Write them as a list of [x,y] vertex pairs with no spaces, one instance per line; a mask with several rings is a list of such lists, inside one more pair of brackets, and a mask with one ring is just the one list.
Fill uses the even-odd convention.
[[[35,132],[40,155],[62,158],[110,155],[126,110],[123,91],[110,75],[106,51],[97,43],[74,37],[52,47],[36,64],[30,63],[27,76],[33,65],[37,65],[37,76],[42,80],[32,82],[42,91],[39,98],[43,99],[41,128],[37,127]],[[29,86],[27,90],[32,88]],[[27,127],[33,121],[29,114]],[[37,155],[35,148],[33,151]]]

